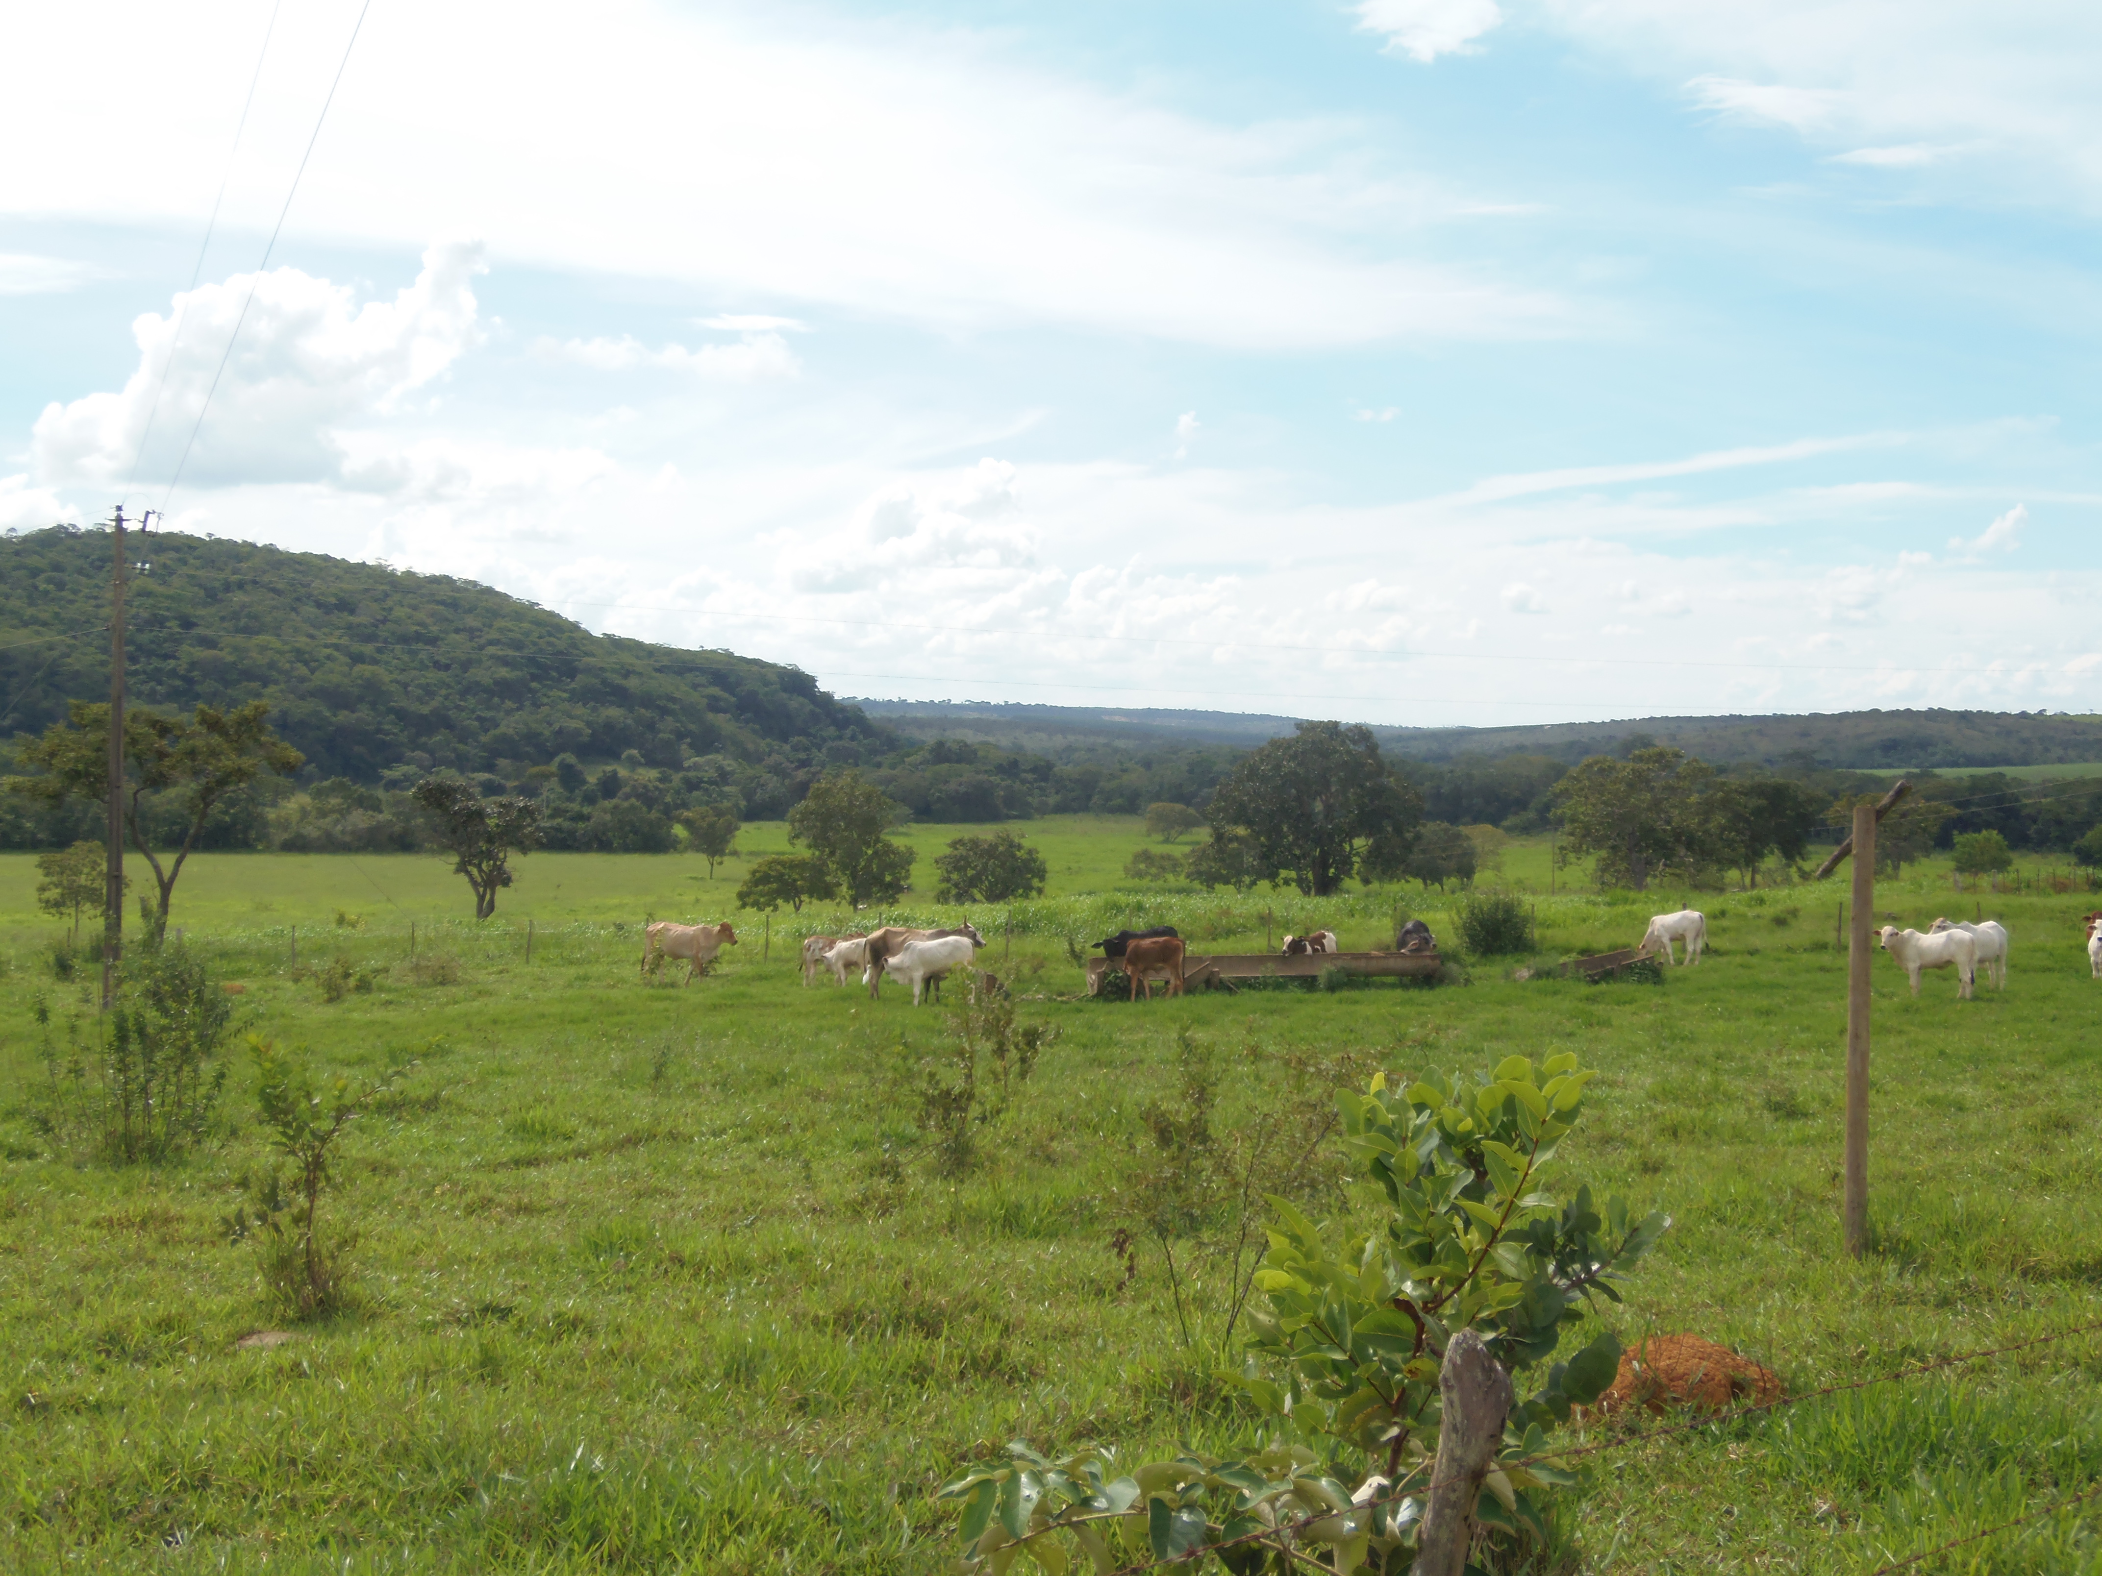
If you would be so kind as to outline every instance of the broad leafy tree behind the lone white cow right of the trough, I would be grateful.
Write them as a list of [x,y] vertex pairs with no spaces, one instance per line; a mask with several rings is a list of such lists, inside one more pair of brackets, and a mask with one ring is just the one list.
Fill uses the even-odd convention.
[[1644,891],[1658,874],[1690,876],[1713,862],[1703,794],[1715,769],[1652,744],[1625,761],[1593,754],[1555,784],[1560,857],[1598,855],[1602,887]]

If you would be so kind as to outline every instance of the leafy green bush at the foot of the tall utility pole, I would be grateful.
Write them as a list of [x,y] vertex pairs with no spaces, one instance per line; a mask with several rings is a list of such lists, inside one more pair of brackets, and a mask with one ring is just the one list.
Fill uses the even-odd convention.
[[97,1021],[95,1044],[67,1019],[65,1049],[55,1046],[42,998],[36,1023],[44,1082],[29,1120],[59,1149],[111,1164],[160,1162],[210,1135],[233,1002],[181,941],[124,960],[118,1007]]

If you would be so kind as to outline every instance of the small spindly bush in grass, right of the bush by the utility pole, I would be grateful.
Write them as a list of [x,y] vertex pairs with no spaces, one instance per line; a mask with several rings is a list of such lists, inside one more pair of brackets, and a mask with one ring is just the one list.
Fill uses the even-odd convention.
[[322,1236],[322,1191],[334,1181],[336,1143],[416,1063],[393,1067],[355,1093],[343,1076],[322,1091],[305,1061],[282,1055],[269,1040],[250,1038],[248,1049],[256,1063],[256,1116],[292,1168],[288,1177],[271,1168],[252,1179],[248,1204],[221,1223],[235,1242],[256,1240],[263,1284],[288,1313],[334,1313],[349,1299],[347,1259],[355,1246],[351,1231]]

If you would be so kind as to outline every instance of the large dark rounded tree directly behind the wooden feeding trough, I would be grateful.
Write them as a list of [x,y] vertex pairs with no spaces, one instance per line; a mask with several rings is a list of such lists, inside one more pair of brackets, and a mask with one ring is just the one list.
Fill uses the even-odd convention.
[[1349,876],[1400,874],[1423,799],[1379,759],[1373,729],[1299,723],[1251,750],[1211,801],[1213,838],[1244,832],[1257,859],[1326,897]]

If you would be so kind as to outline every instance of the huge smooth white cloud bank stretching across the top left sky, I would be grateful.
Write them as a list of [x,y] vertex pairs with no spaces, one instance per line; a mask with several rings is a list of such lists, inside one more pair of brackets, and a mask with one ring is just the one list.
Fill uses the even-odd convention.
[[[296,223],[366,246],[473,225],[507,261],[942,330],[1318,347],[1574,319],[1549,290],[1436,256],[1425,221],[1480,193],[1396,168],[1360,122],[1160,109],[1057,76],[996,29],[650,0],[572,23],[551,0],[502,27],[469,0],[374,13]],[[347,27],[341,4],[280,21],[227,233],[273,223]],[[210,208],[225,105],[246,88],[223,29],[114,0],[34,6],[8,44],[95,61],[101,90],[156,118],[151,137],[95,124],[67,71],[17,74],[0,147],[44,155],[6,162],[0,212],[191,225]],[[170,80],[185,92],[160,92]]]

